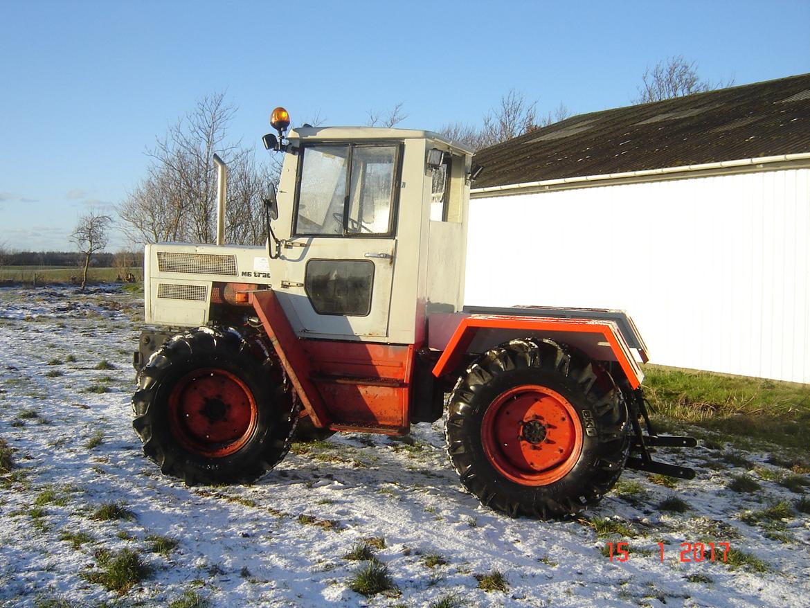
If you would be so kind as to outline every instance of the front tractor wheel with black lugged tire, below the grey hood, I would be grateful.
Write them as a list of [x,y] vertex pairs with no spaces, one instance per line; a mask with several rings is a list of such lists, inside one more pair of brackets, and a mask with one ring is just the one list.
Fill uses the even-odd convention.
[[249,483],[287,454],[298,412],[278,366],[232,328],[175,336],[132,398],[143,452],[186,484]]

